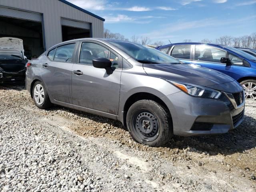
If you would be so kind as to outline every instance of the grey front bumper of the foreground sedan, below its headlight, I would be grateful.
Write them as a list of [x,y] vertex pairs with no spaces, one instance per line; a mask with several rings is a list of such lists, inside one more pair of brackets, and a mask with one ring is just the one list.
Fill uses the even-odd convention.
[[170,110],[174,135],[222,134],[239,126],[244,103],[235,108],[222,94],[218,100],[178,92],[161,98]]

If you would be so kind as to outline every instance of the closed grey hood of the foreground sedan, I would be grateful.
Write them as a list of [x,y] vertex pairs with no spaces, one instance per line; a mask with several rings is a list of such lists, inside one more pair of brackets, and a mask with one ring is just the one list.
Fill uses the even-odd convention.
[[221,72],[194,64],[143,64],[143,68],[150,76],[200,86],[213,86],[234,81],[233,78]]

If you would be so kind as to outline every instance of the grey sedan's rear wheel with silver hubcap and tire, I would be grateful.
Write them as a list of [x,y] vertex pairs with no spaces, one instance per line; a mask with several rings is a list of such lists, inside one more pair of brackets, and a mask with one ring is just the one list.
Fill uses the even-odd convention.
[[41,81],[35,82],[33,86],[33,100],[36,106],[40,109],[46,109],[51,106],[51,102],[44,84]]

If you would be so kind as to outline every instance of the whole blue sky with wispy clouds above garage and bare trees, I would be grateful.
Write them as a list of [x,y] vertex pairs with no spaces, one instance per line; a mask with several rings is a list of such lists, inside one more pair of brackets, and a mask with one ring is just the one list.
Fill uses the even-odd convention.
[[165,44],[256,32],[256,0],[68,0],[105,19],[126,38],[148,36]]

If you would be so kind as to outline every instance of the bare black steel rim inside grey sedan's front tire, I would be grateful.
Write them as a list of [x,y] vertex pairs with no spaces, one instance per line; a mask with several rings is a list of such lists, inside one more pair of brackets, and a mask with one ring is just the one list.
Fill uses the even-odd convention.
[[153,141],[159,134],[158,119],[148,110],[138,110],[133,116],[133,129],[139,138]]

